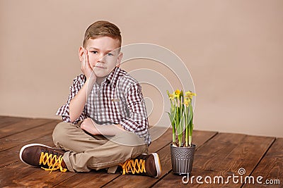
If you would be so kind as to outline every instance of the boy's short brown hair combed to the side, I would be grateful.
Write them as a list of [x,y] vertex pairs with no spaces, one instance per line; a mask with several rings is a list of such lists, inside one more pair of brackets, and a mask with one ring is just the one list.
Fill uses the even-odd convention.
[[108,21],[100,20],[88,26],[83,39],[83,47],[86,47],[88,39],[96,39],[98,37],[118,39],[120,43],[119,47],[122,45],[122,37],[119,28]]

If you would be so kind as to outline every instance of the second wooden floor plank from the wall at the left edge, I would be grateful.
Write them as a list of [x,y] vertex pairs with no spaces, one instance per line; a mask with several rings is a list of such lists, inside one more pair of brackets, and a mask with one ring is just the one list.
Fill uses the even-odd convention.
[[13,123],[11,125],[7,125],[5,127],[0,128],[0,138],[7,137],[12,134],[16,134],[18,132],[23,132],[24,130],[28,130],[33,127],[37,127],[46,123],[50,123],[54,120],[50,119],[28,119],[21,120],[20,122]]

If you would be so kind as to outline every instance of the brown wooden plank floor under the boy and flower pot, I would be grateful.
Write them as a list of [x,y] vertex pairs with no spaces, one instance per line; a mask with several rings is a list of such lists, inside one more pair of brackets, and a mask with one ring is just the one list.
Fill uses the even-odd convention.
[[[51,134],[57,123],[59,120],[0,116],[0,187],[283,187],[283,139],[245,134],[195,130],[193,142],[197,151],[187,184],[187,177],[183,182],[183,176],[171,173],[170,130],[149,147],[161,158],[159,178],[107,174],[104,170],[49,173],[22,163],[18,153],[23,145],[54,146]],[[259,176],[262,184],[256,182]]]

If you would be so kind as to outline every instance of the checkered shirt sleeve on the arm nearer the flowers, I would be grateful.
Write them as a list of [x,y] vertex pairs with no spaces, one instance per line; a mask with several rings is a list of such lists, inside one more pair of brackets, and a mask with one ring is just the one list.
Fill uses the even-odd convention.
[[134,132],[139,137],[149,137],[149,122],[144,96],[142,95],[139,83],[133,84],[128,89],[125,99],[129,110],[129,118],[126,118],[120,124],[125,130]]

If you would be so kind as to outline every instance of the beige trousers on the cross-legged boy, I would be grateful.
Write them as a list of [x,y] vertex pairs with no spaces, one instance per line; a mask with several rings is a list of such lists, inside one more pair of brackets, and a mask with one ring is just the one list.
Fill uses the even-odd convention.
[[148,151],[144,138],[133,132],[125,131],[106,139],[102,135],[86,134],[81,130],[80,123],[59,123],[52,137],[57,148],[67,151],[63,160],[72,172],[108,168],[108,173],[115,173],[117,165]]

